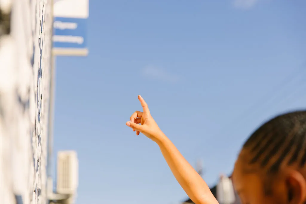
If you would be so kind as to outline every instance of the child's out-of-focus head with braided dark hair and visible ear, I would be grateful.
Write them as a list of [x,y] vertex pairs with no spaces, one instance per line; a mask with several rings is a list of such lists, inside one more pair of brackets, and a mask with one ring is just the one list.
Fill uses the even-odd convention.
[[263,124],[244,144],[233,171],[243,204],[306,203],[306,111]]

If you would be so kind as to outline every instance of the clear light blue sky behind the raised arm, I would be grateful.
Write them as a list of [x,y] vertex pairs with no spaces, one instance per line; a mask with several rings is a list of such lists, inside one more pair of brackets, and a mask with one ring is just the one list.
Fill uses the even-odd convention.
[[90,0],[88,57],[58,57],[54,151],[76,150],[76,204],[186,198],[158,146],[125,122],[147,101],[213,185],[248,135],[306,107],[304,0]]

